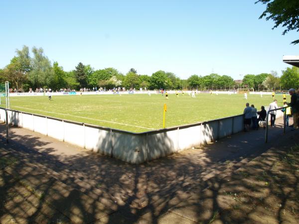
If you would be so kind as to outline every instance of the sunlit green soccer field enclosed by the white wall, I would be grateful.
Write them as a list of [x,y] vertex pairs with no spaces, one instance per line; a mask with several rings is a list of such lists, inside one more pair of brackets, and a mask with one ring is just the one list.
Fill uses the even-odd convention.
[[[269,106],[272,96],[198,94],[195,99],[185,94],[165,96],[135,95],[83,95],[44,97],[10,97],[10,109],[63,118],[78,122],[112,127],[132,132],[143,132],[163,127],[163,105],[167,105],[165,126],[173,127],[207,121],[243,113],[245,104]],[[278,106],[283,105],[277,95]],[[290,102],[290,96],[287,101]],[[1,107],[4,107],[1,105]]]

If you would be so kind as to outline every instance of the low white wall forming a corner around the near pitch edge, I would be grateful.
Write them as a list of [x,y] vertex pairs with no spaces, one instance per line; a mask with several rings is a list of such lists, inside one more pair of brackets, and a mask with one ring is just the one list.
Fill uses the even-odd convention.
[[[133,133],[47,117],[27,112],[7,110],[8,122],[61,141],[140,164],[181,150],[197,147],[243,130],[243,114],[173,128]],[[278,111],[277,117],[283,116]],[[5,111],[0,109],[0,120]],[[6,122],[6,121],[5,121]]]

